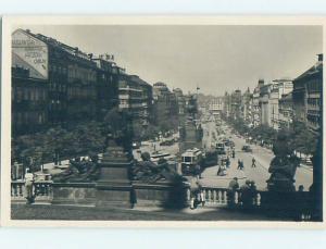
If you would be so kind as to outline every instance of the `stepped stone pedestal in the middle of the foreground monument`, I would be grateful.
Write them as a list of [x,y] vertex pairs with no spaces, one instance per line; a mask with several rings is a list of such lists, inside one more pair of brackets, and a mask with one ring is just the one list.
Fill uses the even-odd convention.
[[100,178],[97,182],[97,206],[112,208],[130,208],[133,186],[129,171],[131,161],[123,148],[111,145],[99,164]]

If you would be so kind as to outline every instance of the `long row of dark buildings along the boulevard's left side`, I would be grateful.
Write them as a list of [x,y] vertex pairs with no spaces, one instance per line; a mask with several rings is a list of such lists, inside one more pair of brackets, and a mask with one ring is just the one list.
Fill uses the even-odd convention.
[[[153,86],[116,65],[51,37],[17,29],[12,34],[13,135],[53,125],[103,120],[112,108],[127,110],[133,124],[160,124],[183,113],[180,89]],[[172,119],[175,120],[175,119]]]

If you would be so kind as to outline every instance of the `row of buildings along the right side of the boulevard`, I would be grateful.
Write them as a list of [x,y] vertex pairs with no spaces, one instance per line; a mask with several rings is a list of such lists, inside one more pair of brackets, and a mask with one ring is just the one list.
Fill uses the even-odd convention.
[[211,103],[211,110],[234,120],[242,119],[249,127],[267,125],[274,129],[287,128],[298,120],[318,133],[323,107],[323,54],[317,62],[294,79],[281,78],[272,83],[259,79],[251,92],[226,92]]

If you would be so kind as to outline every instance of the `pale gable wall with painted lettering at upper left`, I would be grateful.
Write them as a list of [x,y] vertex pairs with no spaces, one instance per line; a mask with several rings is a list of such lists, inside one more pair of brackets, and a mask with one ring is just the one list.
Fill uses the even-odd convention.
[[48,46],[23,29],[12,34],[12,66],[29,70],[29,77],[48,79]]

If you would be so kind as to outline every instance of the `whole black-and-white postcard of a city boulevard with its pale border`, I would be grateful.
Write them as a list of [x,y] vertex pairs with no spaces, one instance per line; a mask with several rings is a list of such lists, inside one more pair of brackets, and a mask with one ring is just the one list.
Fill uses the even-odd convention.
[[82,20],[5,25],[2,219],[324,222],[323,18]]

